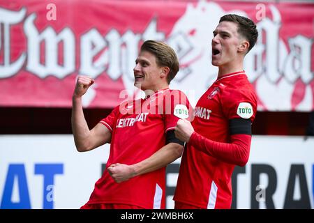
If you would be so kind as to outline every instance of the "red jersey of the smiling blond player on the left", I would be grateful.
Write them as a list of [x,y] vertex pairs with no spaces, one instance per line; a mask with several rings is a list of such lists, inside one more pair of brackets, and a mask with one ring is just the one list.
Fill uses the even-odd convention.
[[188,109],[183,92],[164,89],[146,100],[122,102],[100,121],[112,132],[110,156],[88,203],[165,208],[165,167],[122,183],[114,182],[107,167],[118,162],[135,164],[153,155],[165,146],[165,133],[174,129],[179,118],[188,117]]

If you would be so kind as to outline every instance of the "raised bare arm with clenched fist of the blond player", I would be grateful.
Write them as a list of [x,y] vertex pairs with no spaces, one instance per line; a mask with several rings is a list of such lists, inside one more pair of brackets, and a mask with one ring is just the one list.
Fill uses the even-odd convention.
[[87,92],[91,84],[94,84],[94,79],[79,76],[73,93],[71,122],[75,146],[79,152],[90,151],[111,139],[111,132],[103,124],[98,123],[92,130],[89,130],[84,118],[82,95]]

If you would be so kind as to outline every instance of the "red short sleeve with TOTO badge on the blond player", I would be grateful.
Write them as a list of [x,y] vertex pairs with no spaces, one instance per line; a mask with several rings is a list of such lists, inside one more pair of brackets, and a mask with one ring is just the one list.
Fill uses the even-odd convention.
[[165,132],[174,130],[179,119],[191,120],[193,108],[182,91],[168,91],[164,97]]

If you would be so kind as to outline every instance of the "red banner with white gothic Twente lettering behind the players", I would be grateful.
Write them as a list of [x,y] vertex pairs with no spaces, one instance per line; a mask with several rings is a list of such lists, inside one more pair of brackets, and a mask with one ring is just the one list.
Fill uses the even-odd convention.
[[260,111],[314,110],[314,4],[234,1],[0,0],[0,106],[71,107],[77,75],[96,79],[84,107],[133,95],[144,40],[176,50],[170,85],[197,99],[216,79],[211,38],[227,13],[250,17],[260,37],[245,70]]

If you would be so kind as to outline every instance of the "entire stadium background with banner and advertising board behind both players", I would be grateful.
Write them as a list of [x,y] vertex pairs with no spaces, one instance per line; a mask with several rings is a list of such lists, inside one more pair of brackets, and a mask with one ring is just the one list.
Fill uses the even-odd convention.
[[[262,33],[247,56],[259,112],[250,160],[232,176],[232,208],[314,208],[313,1],[175,0],[0,0],[0,208],[82,206],[109,146],[75,150],[70,103],[76,75],[96,78],[84,100],[92,128],[125,99],[119,98],[121,91],[133,93],[140,42],[165,40],[181,63],[171,86],[195,103],[214,81],[206,52],[213,27],[227,12],[251,17]],[[179,162],[167,167],[167,208],[173,207]]]

